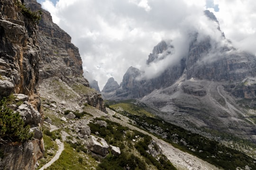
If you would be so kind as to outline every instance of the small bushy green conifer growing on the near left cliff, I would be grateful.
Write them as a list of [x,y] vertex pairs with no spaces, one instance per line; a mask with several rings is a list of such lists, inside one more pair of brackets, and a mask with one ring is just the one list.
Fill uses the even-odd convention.
[[34,134],[25,126],[18,112],[6,106],[7,99],[0,101],[0,142],[25,142],[32,139]]

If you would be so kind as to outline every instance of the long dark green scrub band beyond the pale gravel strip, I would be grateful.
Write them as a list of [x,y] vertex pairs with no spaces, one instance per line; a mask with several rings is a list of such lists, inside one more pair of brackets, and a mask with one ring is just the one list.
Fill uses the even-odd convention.
[[[114,109],[116,106],[117,104],[110,105],[110,108]],[[122,104],[119,103],[119,107],[120,106],[122,106]],[[251,169],[256,169],[256,160],[244,153],[226,147],[219,144],[219,142],[210,140],[199,134],[187,131],[182,127],[165,122],[162,119],[130,114],[133,112],[131,110],[133,109],[122,108],[119,113],[125,114],[130,119],[136,121],[138,127],[143,128],[155,136],[161,137],[175,147],[188,153],[192,153],[202,160],[208,161],[225,170],[236,170],[237,167],[244,168],[245,166],[249,166]]]

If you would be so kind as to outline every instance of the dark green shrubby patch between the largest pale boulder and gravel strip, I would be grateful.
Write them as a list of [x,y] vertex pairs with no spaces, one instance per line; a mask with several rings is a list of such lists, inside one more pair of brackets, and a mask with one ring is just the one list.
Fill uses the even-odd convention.
[[[164,155],[159,154],[160,161],[157,161],[146,152],[148,144],[152,141],[150,136],[136,130],[130,130],[128,127],[123,127],[108,119],[97,119],[106,121],[107,127],[102,128],[98,124],[90,123],[91,133],[95,136],[98,134],[108,144],[118,146],[121,154],[118,157],[109,154],[101,160],[96,170],[123,170],[125,167],[129,167],[129,170],[145,170],[149,169],[146,167],[150,166],[156,167],[158,170],[176,170]],[[137,136],[137,141],[131,142],[132,139],[136,138],[135,136]]]

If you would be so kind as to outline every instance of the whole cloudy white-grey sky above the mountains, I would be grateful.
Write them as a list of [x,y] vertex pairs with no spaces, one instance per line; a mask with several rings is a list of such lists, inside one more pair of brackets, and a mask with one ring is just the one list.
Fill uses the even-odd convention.
[[[146,59],[161,40],[173,40],[175,56],[185,55],[191,30],[214,38],[216,27],[203,16],[209,9],[235,47],[256,53],[255,0],[37,0],[53,21],[72,36],[84,72],[102,90],[108,78],[120,83],[126,70],[136,67],[157,72],[167,67]],[[175,63],[174,59],[168,62]],[[152,71],[153,70],[153,71]],[[87,78],[90,78],[87,75]]]

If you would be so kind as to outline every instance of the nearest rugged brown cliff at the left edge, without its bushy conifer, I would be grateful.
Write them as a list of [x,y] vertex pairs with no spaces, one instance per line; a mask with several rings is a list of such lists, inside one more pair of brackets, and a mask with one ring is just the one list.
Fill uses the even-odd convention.
[[[21,2],[20,2],[21,3]],[[15,0],[0,0],[0,98],[14,94],[11,104],[34,131],[33,140],[19,145],[1,142],[0,170],[34,170],[43,156],[44,142],[37,93],[40,48],[37,25],[22,12]]]

